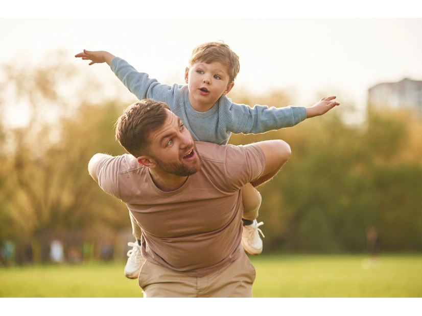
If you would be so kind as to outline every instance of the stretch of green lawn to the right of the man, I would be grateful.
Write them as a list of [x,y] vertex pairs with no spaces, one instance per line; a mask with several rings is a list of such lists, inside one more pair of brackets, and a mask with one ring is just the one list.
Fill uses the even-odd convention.
[[295,255],[252,258],[255,297],[420,298],[422,255]]

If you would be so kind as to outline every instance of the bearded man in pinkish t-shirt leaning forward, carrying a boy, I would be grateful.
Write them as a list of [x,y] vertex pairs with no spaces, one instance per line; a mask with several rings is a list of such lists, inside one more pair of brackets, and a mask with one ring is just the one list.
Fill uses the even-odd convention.
[[252,297],[240,188],[271,179],[289,145],[194,142],[166,103],[150,99],[124,111],[116,139],[130,154],[97,153],[88,171],[142,228],[144,297]]

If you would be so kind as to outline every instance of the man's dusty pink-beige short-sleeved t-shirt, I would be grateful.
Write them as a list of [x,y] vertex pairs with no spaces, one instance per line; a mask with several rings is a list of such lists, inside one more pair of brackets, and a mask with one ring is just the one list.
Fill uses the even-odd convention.
[[229,265],[241,251],[240,188],[259,178],[264,153],[256,145],[195,142],[202,168],[181,188],[159,190],[135,157],[106,157],[100,187],[126,203],[143,233],[142,254],[155,264],[202,277]]

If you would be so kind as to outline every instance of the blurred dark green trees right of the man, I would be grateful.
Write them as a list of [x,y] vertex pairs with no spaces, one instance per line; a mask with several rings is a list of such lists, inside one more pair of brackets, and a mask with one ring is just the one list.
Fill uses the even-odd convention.
[[[421,164],[409,158],[421,148],[420,142],[416,145],[420,138],[409,137],[402,116],[373,113],[362,126],[345,124],[341,117],[340,111],[333,111],[293,128],[232,137],[236,144],[280,138],[292,148],[287,165],[259,189],[263,195],[259,219],[266,224],[264,247],[364,251],[366,229],[375,226],[386,250],[400,250],[401,245],[420,249],[422,211],[416,205],[422,205],[422,195],[415,192],[422,192],[422,182],[415,179]],[[414,148],[409,148],[409,139]],[[394,188],[389,178],[396,178],[405,189]],[[395,234],[408,231],[401,238],[395,234],[383,238],[387,227]]]

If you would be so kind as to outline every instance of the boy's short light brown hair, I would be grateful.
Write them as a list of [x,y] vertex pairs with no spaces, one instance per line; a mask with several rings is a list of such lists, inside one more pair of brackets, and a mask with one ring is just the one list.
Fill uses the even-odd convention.
[[208,42],[192,50],[189,67],[196,62],[210,64],[220,62],[227,67],[230,76],[229,83],[234,82],[240,70],[239,56],[223,42]]

